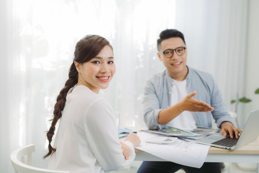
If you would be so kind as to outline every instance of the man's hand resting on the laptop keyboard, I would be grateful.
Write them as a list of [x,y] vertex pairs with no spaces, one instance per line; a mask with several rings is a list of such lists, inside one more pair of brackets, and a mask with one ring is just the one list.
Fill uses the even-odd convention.
[[223,136],[229,134],[230,138],[235,137],[237,139],[239,134],[242,133],[242,130],[236,129],[230,122],[223,122],[221,124],[221,133]]

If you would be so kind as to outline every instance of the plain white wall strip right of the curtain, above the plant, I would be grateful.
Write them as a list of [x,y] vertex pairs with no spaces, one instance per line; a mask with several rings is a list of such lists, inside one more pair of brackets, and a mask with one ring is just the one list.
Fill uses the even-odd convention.
[[246,119],[250,111],[259,109],[259,94],[255,94],[259,88],[259,0],[250,0],[247,41],[246,96],[252,102],[245,105]]

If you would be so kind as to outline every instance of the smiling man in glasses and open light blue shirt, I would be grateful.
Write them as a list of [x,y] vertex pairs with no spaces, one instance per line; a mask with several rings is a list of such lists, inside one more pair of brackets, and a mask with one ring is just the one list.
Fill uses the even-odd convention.
[[[166,70],[148,79],[144,89],[144,119],[148,129],[165,125],[184,130],[212,127],[213,116],[224,136],[238,138],[240,131],[234,127],[212,75],[186,66],[184,35],[175,29],[162,31],[157,49]],[[143,162],[138,173],[172,173],[181,168],[188,173],[221,172],[220,163],[204,163],[197,169],[173,162]]]

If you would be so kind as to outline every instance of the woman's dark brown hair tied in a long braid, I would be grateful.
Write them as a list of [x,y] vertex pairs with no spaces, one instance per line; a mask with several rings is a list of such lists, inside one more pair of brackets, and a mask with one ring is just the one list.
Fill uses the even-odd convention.
[[[111,47],[111,44],[105,38],[97,35],[87,35],[76,43],[74,50],[74,61],[78,63],[88,62],[94,58],[106,45]],[[57,97],[57,102],[54,106],[53,119],[50,120],[52,121],[51,127],[47,131],[48,153],[43,156],[44,159],[56,151],[56,148],[51,146],[55,126],[57,121],[62,117],[62,111],[66,104],[68,91],[70,88],[74,87],[77,82],[78,72],[73,62],[69,70],[69,79],[67,80],[65,87],[61,89]]]

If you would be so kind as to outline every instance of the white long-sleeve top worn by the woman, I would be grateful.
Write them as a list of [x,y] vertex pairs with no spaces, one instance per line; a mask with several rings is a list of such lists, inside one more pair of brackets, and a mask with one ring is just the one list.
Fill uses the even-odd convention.
[[118,140],[114,111],[109,102],[88,87],[69,90],[54,141],[56,152],[48,169],[71,173],[104,173],[133,162],[134,146],[125,160]]

